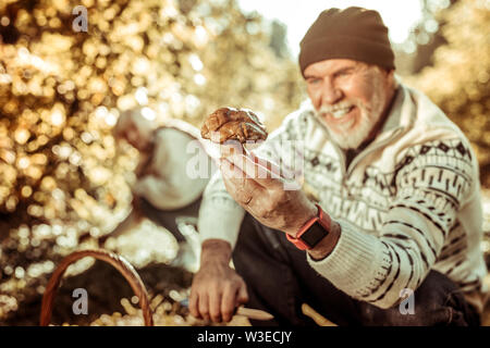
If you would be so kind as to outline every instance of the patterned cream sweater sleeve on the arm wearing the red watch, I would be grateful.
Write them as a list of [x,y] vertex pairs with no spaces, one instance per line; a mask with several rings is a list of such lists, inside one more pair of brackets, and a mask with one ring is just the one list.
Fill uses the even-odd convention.
[[320,261],[308,256],[309,264],[358,300],[380,308],[395,306],[401,291],[415,291],[441,258],[477,171],[469,145],[461,139],[409,148],[396,166],[396,196],[379,235],[340,220],[341,237],[332,253]]

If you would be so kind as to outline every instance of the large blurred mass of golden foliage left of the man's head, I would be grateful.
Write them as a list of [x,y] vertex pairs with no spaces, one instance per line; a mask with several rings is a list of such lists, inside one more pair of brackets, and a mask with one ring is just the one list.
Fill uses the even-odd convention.
[[[79,4],[86,33],[75,30]],[[275,127],[302,94],[269,36],[234,0],[2,1],[0,229],[82,220],[97,236],[113,226],[137,157],[118,156],[110,135],[123,110],[199,125],[230,104]]]

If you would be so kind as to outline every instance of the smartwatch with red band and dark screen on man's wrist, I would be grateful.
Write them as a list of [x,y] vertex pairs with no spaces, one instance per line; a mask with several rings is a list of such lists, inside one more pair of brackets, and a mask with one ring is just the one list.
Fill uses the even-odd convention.
[[330,233],[330,216],[323,212],[320,206],[317,206],[318,213],[308,220],[296,234],[296,237],[286,234],[287,240],[299,250],[309,250],[327,237]]

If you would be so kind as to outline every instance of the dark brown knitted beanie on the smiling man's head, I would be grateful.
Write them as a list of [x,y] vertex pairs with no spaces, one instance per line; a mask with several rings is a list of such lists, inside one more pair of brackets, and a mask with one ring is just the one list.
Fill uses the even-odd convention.
[[299,46],[299,67],[303,75],[309,64],[335,58],[394,69],[388,28],[373,10],[326,10],[306,32]]

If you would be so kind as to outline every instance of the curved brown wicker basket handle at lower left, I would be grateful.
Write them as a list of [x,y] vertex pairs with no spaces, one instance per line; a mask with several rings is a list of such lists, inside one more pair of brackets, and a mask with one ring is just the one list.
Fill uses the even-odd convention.
[[110,263],[124,276],[127,283],[130,283],[134,294],[139,298],[139,304],[142,307],[145,326],[154,326],[152,312],[148,302],[148,293],[146,291],[145,284],[143,283],[138,273],[135,271],[133,265],[123,257],[103,249],[74,251],[60,262],[58,268],[54,270],[54,273],[51,275],[51,278],[49,279],[46,287],[46,291],[42,296],[39,324],[41,326],[47,326],[51,321],[54,296],[57,294],[64,271],[66,271],[68,266],[73,262],[86,257],[93,257],[95,259]]

